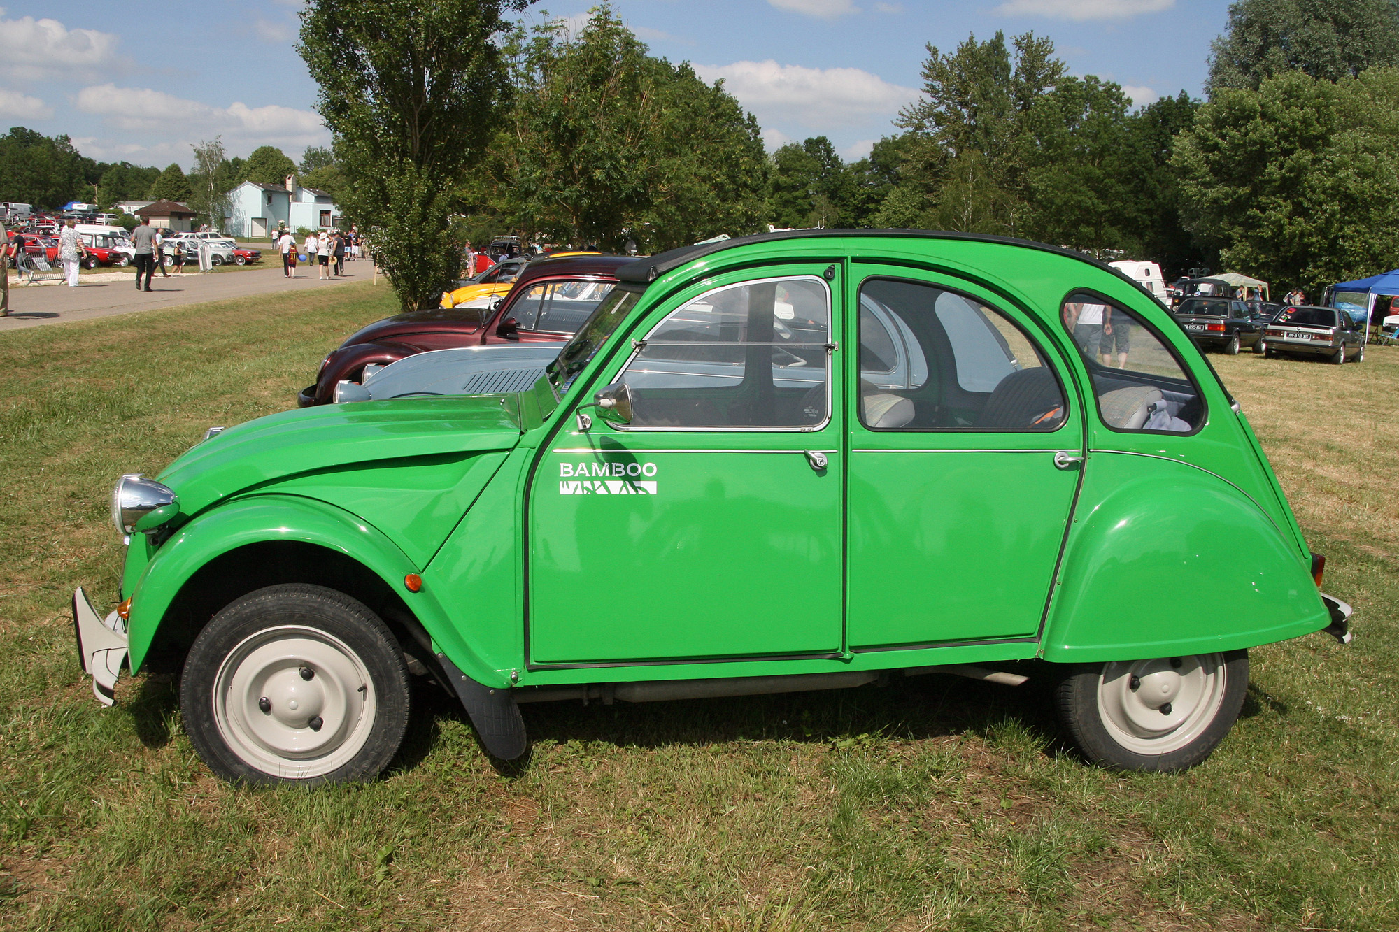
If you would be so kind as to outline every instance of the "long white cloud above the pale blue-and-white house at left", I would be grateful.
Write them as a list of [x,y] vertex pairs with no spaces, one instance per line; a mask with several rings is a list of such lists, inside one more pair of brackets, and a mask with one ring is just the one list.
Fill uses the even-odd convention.
[[213,106],[164,91],[115,84],[85,87],[78,91],[74,104],[78,111],[102,118],[109,129],[140,134],[139,143],[95,140],[91,153],[83,150],[95,158],[147,154],[150,158],[187,162],[190,143],[214,136],[224,137],[224,146],[232,155],[246,154],[259,146],[277,146],[290,153],[330,141],[330,132],[316,113],[277,104],[248,106],[235,101],[228,106]]

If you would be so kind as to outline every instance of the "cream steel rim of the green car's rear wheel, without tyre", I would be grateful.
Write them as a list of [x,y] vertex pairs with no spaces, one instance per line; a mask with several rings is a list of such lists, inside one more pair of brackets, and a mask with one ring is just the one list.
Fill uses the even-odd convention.
[[1107,663],[1098,676],[1098,714],[1118,744],[1167,754],[1214,721],[1227,676],[1219,654]]

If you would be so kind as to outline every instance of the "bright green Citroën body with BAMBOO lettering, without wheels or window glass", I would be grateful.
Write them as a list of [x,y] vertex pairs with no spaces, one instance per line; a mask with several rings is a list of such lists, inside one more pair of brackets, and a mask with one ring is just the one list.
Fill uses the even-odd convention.
[[[178,665],[249,588],[336,588],[325,574],[372,584],[492,701],[1344,633],[1247,418],[1170,313],[1107,266],[992,238],[806,231],[641,260],[631,278],[625,318],[571,381],[290,410],[175,460],[158,479],[178,514],[127,549],[130,668]],[[596,407],[667,315],[768,280],[825,283],[824,420],[637,430]],[[1056,425],[865,427],[855,308],[876,280],[996,309],[1058,379]],[[1076,291],[1177,357],[1199,392],[1191,430],[1104,420],[1104,374],[1060,318]]]

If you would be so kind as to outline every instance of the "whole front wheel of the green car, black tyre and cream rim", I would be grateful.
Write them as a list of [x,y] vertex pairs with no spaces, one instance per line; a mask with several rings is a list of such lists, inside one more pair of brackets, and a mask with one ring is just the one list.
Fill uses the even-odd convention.
[[[264,696],[249,705],[255,693]],[[179,694],[194,750],[234,782],[374,779],[409,725],[407,666],[389,628],[355,599],[305,584],[250,592],[215,614],[190,647]],[[299,723],[298,697],[299,714],[312,712]]]

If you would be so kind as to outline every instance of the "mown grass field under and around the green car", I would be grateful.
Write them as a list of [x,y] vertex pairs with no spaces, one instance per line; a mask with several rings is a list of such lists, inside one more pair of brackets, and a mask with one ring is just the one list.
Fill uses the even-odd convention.
[[1399,348],[1212,357],[1357,640],[1255,651],[1238,725],[1188,774],[1080,764],[1034,682],[921,677],[530,705],[511,772],[422,689],[376,784],[214,781],[168,684],[123,679],[102,709],[78,673],[70,593],[105,609],[119,571],[108,490],[288,407],[392,301],[357,284],[0,337],[0,928],[1399,928]]

